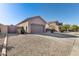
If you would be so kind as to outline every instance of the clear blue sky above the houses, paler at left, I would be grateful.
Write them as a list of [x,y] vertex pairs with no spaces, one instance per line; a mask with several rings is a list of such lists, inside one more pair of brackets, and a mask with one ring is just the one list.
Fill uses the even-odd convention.
[[32,16],[41,16],[47,22],[58,20],[79,25],[79,4],[0,4],[0,23],[2,24],[15,25]]

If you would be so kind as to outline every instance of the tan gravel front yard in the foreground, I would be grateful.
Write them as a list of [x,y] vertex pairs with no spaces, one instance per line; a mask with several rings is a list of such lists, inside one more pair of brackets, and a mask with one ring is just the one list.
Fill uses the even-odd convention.
[[71,55],[74,39],[42,36],[37,34],[9,35],[7,54],[9,56]]

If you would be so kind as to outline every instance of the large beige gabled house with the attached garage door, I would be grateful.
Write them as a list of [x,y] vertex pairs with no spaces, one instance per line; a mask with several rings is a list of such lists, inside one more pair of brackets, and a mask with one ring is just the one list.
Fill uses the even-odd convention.
[[43,33],[45,32],[46,21],[40,16],[30,17],[24,21],[18,23],[18,31],[21,31],[20,27],[23,27],[26,33]]

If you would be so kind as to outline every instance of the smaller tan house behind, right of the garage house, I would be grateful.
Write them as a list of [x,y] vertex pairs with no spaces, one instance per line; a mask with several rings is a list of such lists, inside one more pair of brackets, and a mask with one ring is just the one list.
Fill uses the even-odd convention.
[[57,32],[60,32],[61,25],[62,25],[62,23],[60,23],[58,21],[48,22],[46,24],[46,29],[51,29],[51,30],[55,30]]

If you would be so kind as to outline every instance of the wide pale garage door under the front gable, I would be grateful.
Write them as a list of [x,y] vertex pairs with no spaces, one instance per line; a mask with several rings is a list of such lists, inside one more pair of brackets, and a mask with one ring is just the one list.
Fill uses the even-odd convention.
[[32,24],[31,29],[32,29],[32,33],[43,33],[44,26],[43,25]]

